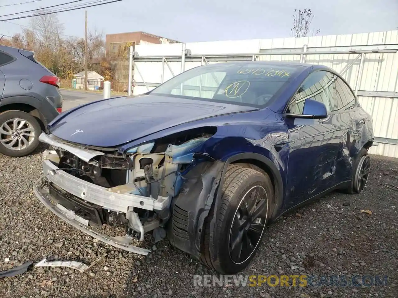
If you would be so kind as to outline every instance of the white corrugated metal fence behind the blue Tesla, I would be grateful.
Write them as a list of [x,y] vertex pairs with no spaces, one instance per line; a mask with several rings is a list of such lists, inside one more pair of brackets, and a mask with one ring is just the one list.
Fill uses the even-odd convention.
[[[304,45],[308,50],[325,52],[339,50],[344,46],[367,46],[383,48],[382,45],[398,45],[398,30],[349,35],[326,35],[304,38],[255,39],[244,41],[217,41],[203,43],[187,43],[186,48],[191,55],[205,57],[212,56],[209,63],[224,62],[225,59],[216,55],[268,53],[279,51],[298,52]],[[372,45],[369,47],[369,45]],[[364,47],[365,48],[365,47]],[[158,83],[166,81],[181,72],[181,58],[172,59],[170,56],[181,55],[182,44],[137,45],[135,48],[134,94],[140,94],[154,88]],[[156,59],[140,59],[140,56],[163,56],[166,62]],[[286,60],[300,61],[300,54],[283,54],[258,56],[258,60]],[[305,61],[313,64],[323,64],[341,72],[351,62],[358,58],[358,54],[311,54],[306,55]],[[202,58],[203,59],[203,58]],[[206,59],[206,58],[204,58]],[[206,60],[205,60],[206,61]],[[185,70],[201,65],[203,62],[186,61]],[[163,66],[163,71],[162,71]],[[343,77],[353,89],[356,86],[360,59],[355,60],[351,68]],[[146,85],[146,86],[145,86]],[[398,53],[366,54],[364,56],[363,72],[358,84],[361,91],[389,91],[398,92]],[[359,101],[363,108],[373,117],[375,136],[388,139],[398,139],[398,98],[365,97],[359,92]],[[371,148],[371,153],[398,157],[398,145],[378,143]]]

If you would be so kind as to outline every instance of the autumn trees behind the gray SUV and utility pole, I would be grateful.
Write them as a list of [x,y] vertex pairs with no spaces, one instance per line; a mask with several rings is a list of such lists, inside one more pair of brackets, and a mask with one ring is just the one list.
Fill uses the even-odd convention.
[[[84,39],[62,38],[64,25],[55,14],[32,18],[30,27],[31,29],[23,29],[13,37],[3,37],[0,44],[34,51],[37,61],[64,80],[62,84],[71,86],[73,75],[84,69]],[[103,33],[96,29],[89,31],[87,45],[88,70],[94,70],[112,79],[112,64],[103,59],[105,56]]]

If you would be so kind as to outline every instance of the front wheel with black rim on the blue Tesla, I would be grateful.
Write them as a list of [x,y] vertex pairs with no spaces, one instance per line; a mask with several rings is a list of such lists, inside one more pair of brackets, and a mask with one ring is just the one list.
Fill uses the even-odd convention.
[[[258,251],[274,201],[271,179],[253,168],[231,164],[225,174],[221,205],[215,229],[219,239],[210,238],[214,204],[205,221],[202,262],[222,274],[247,267]],[[215,261],[209,248],[217,241]]]

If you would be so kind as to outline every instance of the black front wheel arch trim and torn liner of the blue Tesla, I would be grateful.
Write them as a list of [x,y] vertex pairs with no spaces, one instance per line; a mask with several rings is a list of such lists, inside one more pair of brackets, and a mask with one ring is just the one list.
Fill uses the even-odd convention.
[[[242,152],[224,159],[201,162],[185,176],[181,191],[171,203],[172,221],[168,223],[168,239],[173,246],[200,259],[204,236],[203,228],[211,210],[215,216],[212,216],[210,221],[210,238],[217,239],[219,232],[215,229],[215,223],[219,219],[218,211],[221,206],[222,185],[226,170],[228,165],[239,162],[250,162],[270,174],[275,185],[275,205],[270,219],[276,218],[283,201],[284,186],[277,165],[269,158],[260,153]],[[184,235],[181,234],[181,231],[178,234],[174,233],[173,218],[176,206],[178,210],[183,211],[187,219],[182,230]],[[181,228],[181,226],[179,227]],[[217,250],[218,244],[213,240],[212,243],[210,250],[214,252]],[[211,253],[211,255],[214,254]]]

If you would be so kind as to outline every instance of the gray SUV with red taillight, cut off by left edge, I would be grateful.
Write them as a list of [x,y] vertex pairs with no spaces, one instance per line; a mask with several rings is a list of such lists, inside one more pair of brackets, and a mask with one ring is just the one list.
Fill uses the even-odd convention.
[[58,77],[33,52],[0,45],[0,153],[32,153],[41,132],[60,112]]

